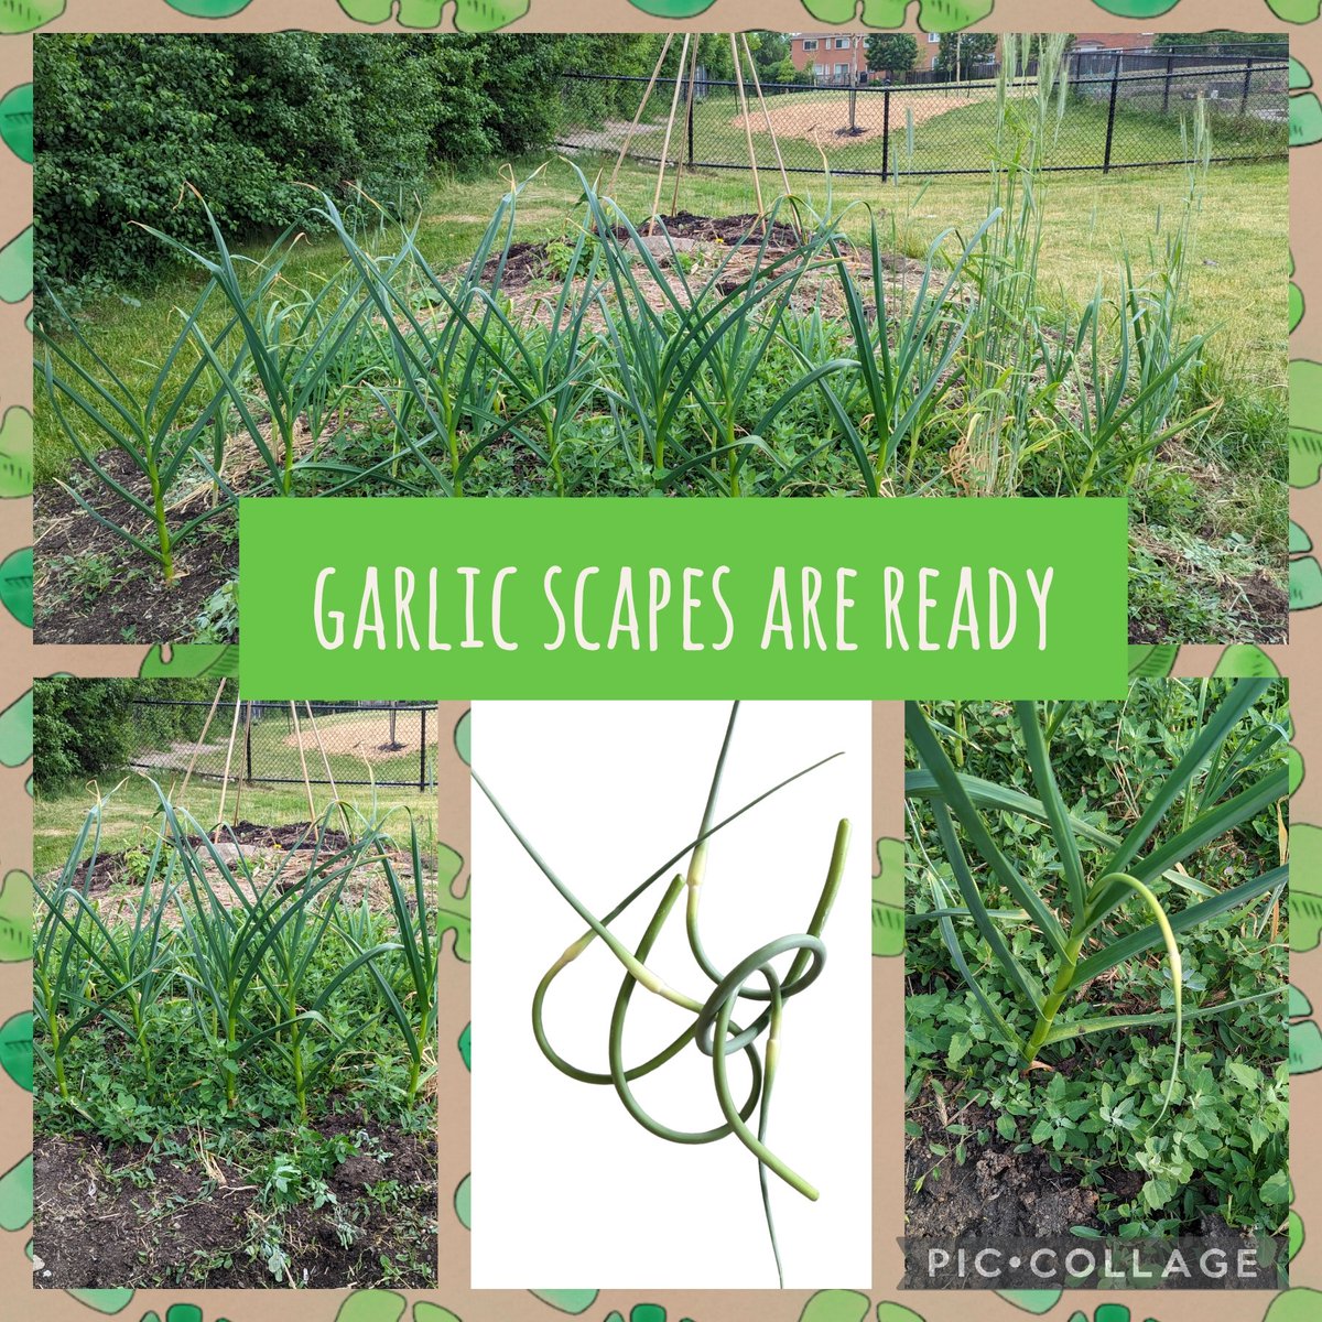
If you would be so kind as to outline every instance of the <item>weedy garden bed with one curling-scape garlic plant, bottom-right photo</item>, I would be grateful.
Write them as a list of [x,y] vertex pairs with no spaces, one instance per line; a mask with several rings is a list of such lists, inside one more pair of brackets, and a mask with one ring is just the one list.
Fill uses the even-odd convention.
[[1266,680],[907,705],[915,1272],[980,1236],[1284,1263],[1288,728]]

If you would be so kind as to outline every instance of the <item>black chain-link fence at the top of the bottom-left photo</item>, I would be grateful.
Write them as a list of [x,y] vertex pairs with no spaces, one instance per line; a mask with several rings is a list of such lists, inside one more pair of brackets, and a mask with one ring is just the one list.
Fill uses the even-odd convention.
[[[135,698],[130,765],[155,779],[267,785],[411,787],[436,783],[439,720],[422,702],[210,702]],[[309,719],[311,709],[311,719]],[[233,744],[231,744],[233,735]],[[226,772],[227,768],[227,772]]]

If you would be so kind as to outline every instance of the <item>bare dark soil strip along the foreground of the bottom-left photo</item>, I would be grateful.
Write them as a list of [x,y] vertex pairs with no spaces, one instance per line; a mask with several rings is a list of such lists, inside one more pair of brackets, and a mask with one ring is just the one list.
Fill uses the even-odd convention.
[[[332,1116],[317,1128],[324,1136],[366,1130],[390,1157],[349,1157],[328,1181],[334,1203],[316,1210],[264,1204],[256,1181],[225,1162],[208,1174],[196,1161],[153,1157],[141,1144],[111,1149],[83,1134],[40,1137],[32,1247],[41,1266],[33,1284],[63,1290],[279,1286],[255,1249],[263,1225],[278,1223],[300,1286],[435,1285],[435,1142],[362,1114]],[[173,1137],[188,1147],[188,1134]],[[398,1192],[370,1198],[368,1187],[382,1181],[394,1181]],[[345,1224],[353,1227],[348,1247]],[[431,1237],[420,1240],[419,1227],[428,1227]],[[382,1256],[393,1264],[389,1281],[382,1281]]]

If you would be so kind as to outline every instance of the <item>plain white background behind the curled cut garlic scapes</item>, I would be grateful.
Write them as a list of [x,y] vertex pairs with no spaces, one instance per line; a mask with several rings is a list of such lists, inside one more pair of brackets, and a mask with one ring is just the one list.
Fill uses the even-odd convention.
[[[561,880],[603,916],[698,834],[728,711],[720,702],[477,702],[473,767]],[[863,702],[743,703],[714,821],[826,754],[845,756],[713,837],[702,888],[703,944],[728,969],[806,929],[837,822],[853,824],[824,929],[825,970],[787,1002],[781,1029],[768,1146],[821,1190],[813,1203],[769,1175],[787,1288],[871,1284],[870,722]],[[539,1052],[533,992],[584,924],[476,785],[472,825],[473,1286],[773,1289],[758,1162],[739,1140],[668,1142],[642,1129],[613,1088],[568,1079]],[[631,949],[669,876],[686,866],[612,924]],[[705,1001],[711,984],[689,953],[683,903],[648,964]],[[781,974],[789,958],[776,961]],[[547,995],[551,1044],[582,1068],[608,1069],[620,981],[598,940]],[[625,1063],[654,1054],[691,1018],[635,989]],[[744,1056],[731,1060],[730,1077],[742,1103]],[[640,1079],[635,1095],[674,1129],[723,1121],[711,1060],[693,1044]]]

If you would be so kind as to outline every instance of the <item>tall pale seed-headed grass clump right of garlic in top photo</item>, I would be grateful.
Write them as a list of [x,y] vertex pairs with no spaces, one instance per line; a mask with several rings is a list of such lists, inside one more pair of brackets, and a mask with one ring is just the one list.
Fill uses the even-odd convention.
[[1077,316],[1043,264],[1048,178],[1068,106],[1064,38],[1040,41],[1038,78],[1017,83],[1029,38],[1002,40],[989,204],[995,223],[969,262],[976,299],[962,356],[966,475],[976,494],[1015,494],[1030,461],[1046,463],[1062,494],[1118,492],[1161,446],[1207,408],[1188,402],[1204,337],[1186,334],[1191,253],[1211,159],[1199,102],[1182,126],[1188,186],[1175,223],[1157,217],[1151,270],[1122,254]]

